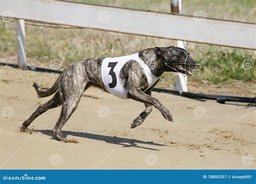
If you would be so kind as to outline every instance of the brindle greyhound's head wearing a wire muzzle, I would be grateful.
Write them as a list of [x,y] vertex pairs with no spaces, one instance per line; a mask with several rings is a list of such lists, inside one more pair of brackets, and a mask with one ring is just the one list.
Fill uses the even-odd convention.
[[156,47],[157,55],[163,60],[165,72],[179,72],[186,76],[193,75],[200,64],[192,59],[190,53],[179,47]]

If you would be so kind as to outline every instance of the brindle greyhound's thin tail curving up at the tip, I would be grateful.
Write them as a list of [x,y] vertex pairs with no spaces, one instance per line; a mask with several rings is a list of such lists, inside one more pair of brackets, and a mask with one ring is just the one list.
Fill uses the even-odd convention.
[[37,93],[38,97],[43,98],[43,97],[50,96],[53,93],[55,93],[60,87],[60,76],[58,77],[56,82],[53,84],[53,86],[50,89],[45,90],[45,91],[43,91],[41,89],[41,87],[39,86],[39,84],[37,82],[33,83],[33,87],[36,89],[36,93]]

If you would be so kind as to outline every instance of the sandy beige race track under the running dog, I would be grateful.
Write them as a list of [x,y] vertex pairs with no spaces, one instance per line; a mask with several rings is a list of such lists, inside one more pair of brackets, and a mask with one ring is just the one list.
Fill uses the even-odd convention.
[[49,88],[57,74],[0,67],[1,169],[254,169],[255,108],[247,104],[218,104],[153,93],[173,115],[166,121],[156,109],[136,129],[134,118],[143,103],[122,100],[90,88],[64,126],[52,138],[60,108],[39,116],[32,131],[19,126],[36,107],[32,83]]

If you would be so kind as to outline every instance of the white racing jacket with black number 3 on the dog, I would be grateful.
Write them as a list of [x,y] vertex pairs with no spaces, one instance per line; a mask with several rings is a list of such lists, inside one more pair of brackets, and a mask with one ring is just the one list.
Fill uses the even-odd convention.
[[[126,55],[118,58],[105,58],[102,61],[102,80],[105,85],[105,89],[110,94],[118,96],[120,98],[127,99],[126,89],[123,87],[120,80],[120,71],[126,62],[130,60],[137,61],[142,66],[146,77],[149,88],[159,79],[150,72],[149,66],[147,66],[142,59],[139,58],[139,54]],[[149,89],[147,88],[147,89]],[[146,90],[147,90],[146,89]],[[146,91],[145,90],[145,91]]]

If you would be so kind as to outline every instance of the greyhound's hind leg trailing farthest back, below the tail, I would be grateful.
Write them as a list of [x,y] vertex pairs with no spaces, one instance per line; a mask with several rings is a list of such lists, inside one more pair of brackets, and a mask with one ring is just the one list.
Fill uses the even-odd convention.
[[42,115],[44,112],[46,112],[49,109],[56,108],[59,105],[63,103],[63,97],[62,94],[58,91],[55,96],[48,102],[39,105],[39,107],[36,109],[35,112],[22,124],[21,131],[25,131],[26,128],[32,123],[34,119],[36,119],[38,116]]

